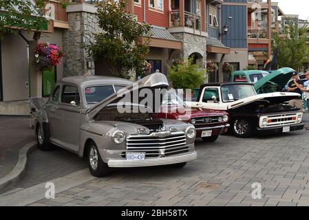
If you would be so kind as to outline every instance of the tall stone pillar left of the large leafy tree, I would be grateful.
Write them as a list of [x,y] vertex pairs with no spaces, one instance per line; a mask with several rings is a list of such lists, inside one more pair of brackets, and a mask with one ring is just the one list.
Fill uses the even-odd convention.
[[[69,29],[63,34],[64,76],[94,75],[94,61],[89,58],[85,46],[94,41],[98,32],[96,14],[92,12],[68,12]],[[92,67],[87,69],[87,61]]]

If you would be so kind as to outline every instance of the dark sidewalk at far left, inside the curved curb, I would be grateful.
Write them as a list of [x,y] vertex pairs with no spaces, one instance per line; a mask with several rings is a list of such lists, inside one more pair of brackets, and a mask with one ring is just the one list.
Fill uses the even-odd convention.
[[29,117],[0,115],[0,178],[17,164],[20,149],[34,140]]

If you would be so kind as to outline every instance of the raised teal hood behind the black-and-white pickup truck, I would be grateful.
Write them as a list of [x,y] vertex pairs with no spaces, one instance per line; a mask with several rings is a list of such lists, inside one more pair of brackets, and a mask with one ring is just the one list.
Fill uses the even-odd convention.
[[254,85],[255,91],[259,91],[259,89],[261,89],[261,87],[266,85],[266,83],[268,82],[275,83],[280,87],[284,88],[284,85],[286,85],[290,78],[292,78],[293,73],[295,73],[295,70],[288,67],[277,69],[268,76],[265,76],[264,78],[258,80],[257,83],[255,83]]

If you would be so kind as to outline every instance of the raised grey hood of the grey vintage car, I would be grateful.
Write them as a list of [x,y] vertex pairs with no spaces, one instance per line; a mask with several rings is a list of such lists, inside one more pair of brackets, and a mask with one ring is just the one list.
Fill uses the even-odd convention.
[[[146,76],[145,78],[142,78],[135,83],[128,85],[127,87],[124,87],[120,89],[115,94],[111,94],[111,96],[108,96],[104,100],[102,100],[100,103],[96,104],[94,107],[89,109],[87,111],[87,117],[90,119],[94,118],[94,116],[101,110],[107,107],[109,104],[116,104],[116,103],[128,103],[127,99],[123,101],[123,98],[128,96],[131,97],[129,100],[129,103],[132,104],[140,104],[140,100],[144,99],[145,97],[139,97],[140,90],[141,89],[150,89],[154,91],[154,89],[166,89],[169,87],[169,83],[167,82],[167,77],[164,74],[160,73],[154,73],[149,76]],[[147,96],[147,95],[146,95]],[[153,98],[153,100],[155,100]],[[160,98],[160,105],[162,102],[162,98]],[[153,103],[147,103],[151,104],[153,106]],[[158,105],[158,108],[160,109],[160,105]],[[148,107],[147,107],[148,108]],[[152,109],[152,108],[151,108]],[[159,110],[157,109],[157,110]],[[152,111],[156,111],[156,109],[152,109]]]

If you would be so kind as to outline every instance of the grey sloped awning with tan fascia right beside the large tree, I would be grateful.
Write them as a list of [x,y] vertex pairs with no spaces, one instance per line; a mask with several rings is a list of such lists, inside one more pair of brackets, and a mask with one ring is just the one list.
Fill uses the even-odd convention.
[[[169,49],[182,49],[182,41],[178,41],[165,28],[151,26],[149,47],[161,47]],[[142,38],[144,41],[144,38]]]

